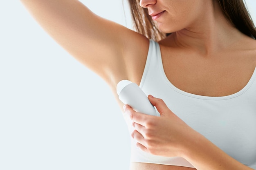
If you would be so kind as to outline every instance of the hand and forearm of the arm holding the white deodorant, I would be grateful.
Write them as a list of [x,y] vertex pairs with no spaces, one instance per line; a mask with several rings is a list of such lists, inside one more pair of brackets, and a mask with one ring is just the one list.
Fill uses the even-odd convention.
[[137,146],[153,155],[183,157],[197,170],[253,170],[220,150],[211,141],[177,117],[162,99],[149,96],[160,117],[135,112],[125,105],[135,130]]

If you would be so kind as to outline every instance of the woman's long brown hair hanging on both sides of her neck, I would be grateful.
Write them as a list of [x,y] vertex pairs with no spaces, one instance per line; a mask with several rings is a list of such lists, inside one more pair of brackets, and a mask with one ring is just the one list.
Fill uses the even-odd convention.
[[[256,28],[243,0],[218,0],[227,20],[245,35],[256,38]],[[159,41],[166,37],[157,29],[157,24],[148,15],[148,10],[139,6],[139,0],[128,0],[135,31],[149,39]]]

